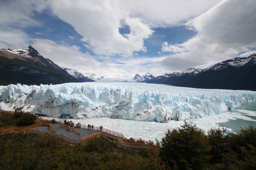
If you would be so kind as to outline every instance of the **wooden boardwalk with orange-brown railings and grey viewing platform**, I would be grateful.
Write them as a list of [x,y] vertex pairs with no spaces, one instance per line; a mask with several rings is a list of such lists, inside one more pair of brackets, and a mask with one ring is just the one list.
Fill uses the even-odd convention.
[[[0,115],[10,115],[12,113],[7,113],[3,110],[0,110]],[[64,121],[58,120],[55,121],[55,124],[52,124],[51,121],[44,120],[42,117],[37,117],[36,122],[32,126],[27,126],[24,128],[19,128],[15,126],[8,126],[5,128],[0,128],[0,136],[7,135],[10,133],[36,133],[39,135],[52,135],[56,138],[59,138],[65,142],[72,144],[83,144],[103,136],[105,138],[110,138],[116,140],[118,144],[126,148],[132,149],[153,149],[157,153],[160,150],[160,145],[155,145],[146,140],[130,140],[127,139],[122,133],[110,131],[108,129],[101,129],[95,127],[93,130],[87,129],[87,125],[81,125],[81,128],[73,127],[74,123],[71,124],[71,127],[64,124]]]

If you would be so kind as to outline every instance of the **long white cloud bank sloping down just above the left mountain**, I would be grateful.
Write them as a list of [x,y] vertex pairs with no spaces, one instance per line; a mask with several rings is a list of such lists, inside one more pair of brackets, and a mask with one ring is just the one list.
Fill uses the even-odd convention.
[[[100,75],[129,75],[129,70],[113,67],[115,61],[111,61],[108,57],[92,56],[88,52],[82,53],[79,46],[69,46],[65,44],[57,44],[47,39],[33,39],[32,47],[35,48],[40,55],[49,58],[58,66],[77,70],[84,75],[88,73],[96,73]],[[97,59],[104,59],[103,62]]]

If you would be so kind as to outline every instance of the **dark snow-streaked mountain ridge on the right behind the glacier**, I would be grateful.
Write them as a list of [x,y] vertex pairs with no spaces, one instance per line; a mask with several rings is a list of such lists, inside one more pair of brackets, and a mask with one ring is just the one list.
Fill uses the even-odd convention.
[[203,89],[256,91],[255,71],[256,54],[254,53],[248,57],[235,57],[203,70],[193,68],[180,73],[167,73],[147,83]]

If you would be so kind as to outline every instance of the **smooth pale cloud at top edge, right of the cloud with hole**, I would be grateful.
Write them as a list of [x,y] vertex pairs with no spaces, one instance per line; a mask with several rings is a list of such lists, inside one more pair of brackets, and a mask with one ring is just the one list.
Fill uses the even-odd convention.
[[123,0],[131,17],[139,17],[151,28],[177,26],[205,13],[221,0]]

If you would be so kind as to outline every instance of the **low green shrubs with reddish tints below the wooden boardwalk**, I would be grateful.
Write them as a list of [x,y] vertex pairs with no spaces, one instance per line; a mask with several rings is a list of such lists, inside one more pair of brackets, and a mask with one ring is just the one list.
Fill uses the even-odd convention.
[[103,137],[86,144],[62,142],[52,136],[7,135],[0,138],[1,169],[166,169],[150,150],[117,147]]

